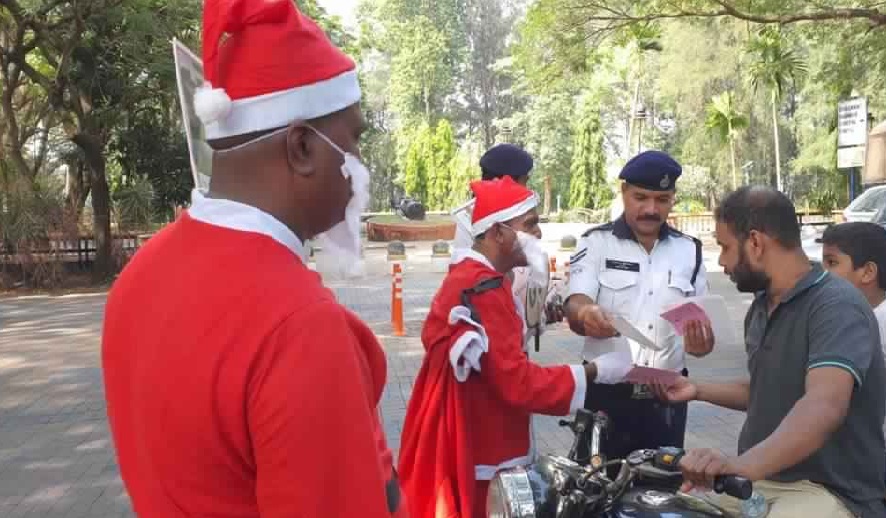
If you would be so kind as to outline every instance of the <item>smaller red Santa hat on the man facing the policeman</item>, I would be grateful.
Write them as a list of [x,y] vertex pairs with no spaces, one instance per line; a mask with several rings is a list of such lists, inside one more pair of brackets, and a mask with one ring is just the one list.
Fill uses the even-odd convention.
[[486,232],[496,223],[504,223],[538,206],[538,196],[510,176],[471,183],[475,204],[471,214],[471,234]]

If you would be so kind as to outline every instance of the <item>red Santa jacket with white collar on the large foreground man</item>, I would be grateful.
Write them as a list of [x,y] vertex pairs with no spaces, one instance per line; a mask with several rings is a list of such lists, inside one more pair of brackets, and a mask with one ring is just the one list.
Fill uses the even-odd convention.
[[102,366],[140,517],[391,516],[384,353],[302,254],[269,215],[198,198],[115,282]]

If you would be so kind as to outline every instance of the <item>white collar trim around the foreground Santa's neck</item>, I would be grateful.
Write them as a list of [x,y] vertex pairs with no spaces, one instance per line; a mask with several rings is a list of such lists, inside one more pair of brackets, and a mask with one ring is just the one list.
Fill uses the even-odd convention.
[[257,207],[221,198],[207,198],[194,189],[188,214],[209,225],[268,236],[306,262],[305,245],[295,232]]

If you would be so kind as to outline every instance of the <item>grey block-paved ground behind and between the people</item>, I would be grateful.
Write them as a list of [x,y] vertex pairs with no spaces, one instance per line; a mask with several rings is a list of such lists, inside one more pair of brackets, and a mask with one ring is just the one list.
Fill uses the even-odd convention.
[[[412,383],[421,363],[422,319],[442,275],[419,261],[404,281],[408,337],[391,337],[390,280],[378,273],[359,283],[333,283],[340,300],[382,337],[388,384],[381,411],[391,446],[400,434]],[[715,265],[709,264],[711,269]],[[713,291],[727,297],[736,326],[749,303],[722,274]],[[133,516],[109,441],[99,365],[105,296],[0,299],[0,518]],[[147,308],[146,308],[147,310]],[[547,333],[541,363],[574,362],[581,341],[563,327]],[[708,358],[691,360],[694,376],[729,379],[745,372],[738,344],[721,344]],[[737,412],[690,405],[689,446],[732,452],[741,426]],[[569,434],[553,418],[537,421],[539,447],[564,452]]]

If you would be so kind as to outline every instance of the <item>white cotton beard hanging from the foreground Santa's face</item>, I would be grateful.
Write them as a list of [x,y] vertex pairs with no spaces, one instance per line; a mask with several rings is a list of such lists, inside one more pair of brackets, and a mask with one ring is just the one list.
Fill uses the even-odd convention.
[[355,278],[365,274],[361,254],[362,239],[360,217],[369,207],[369,170],[353,155],[345,156],[342,173],[351,179],[351,199],[345,208],[345,219],[317,236],[323,255],[329,261],[329,273],[343,278]]

